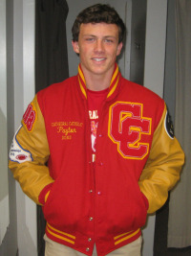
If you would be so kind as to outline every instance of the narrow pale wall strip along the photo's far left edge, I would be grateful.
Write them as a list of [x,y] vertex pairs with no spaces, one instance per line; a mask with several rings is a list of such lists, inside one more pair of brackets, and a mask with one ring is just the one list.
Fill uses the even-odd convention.
[[0,0],[0,244],[10,223],[7,134],[6,0]]

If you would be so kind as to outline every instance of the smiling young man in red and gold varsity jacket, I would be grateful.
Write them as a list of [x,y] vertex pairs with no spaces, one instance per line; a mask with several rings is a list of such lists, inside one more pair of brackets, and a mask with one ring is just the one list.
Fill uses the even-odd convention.
[[77,76],[38,92],[13,138],[10,168],[43,207],[47,256],[140,255],[147,213],[180,178],[165,103],[118,71],[124,34],[111,7],[80,12]]

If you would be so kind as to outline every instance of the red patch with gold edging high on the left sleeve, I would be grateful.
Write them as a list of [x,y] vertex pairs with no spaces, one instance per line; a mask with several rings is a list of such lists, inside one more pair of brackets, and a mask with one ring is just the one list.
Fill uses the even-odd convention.
[[28,108],[25,111],[25,114],[23,115],[23,122],[29,131],[32,131],[35,120],[36,120],[36,110],[34,105],[30,104],[28,105]]

